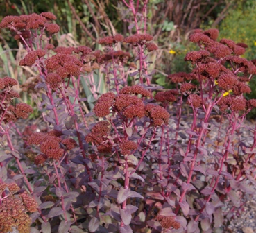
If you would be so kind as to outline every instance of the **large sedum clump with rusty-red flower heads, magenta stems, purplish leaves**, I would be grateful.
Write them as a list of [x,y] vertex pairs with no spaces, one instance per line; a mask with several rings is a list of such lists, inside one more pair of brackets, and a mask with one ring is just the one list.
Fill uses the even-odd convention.
[[[42,112],[41,126],[22,121],[21,132],[15,123],[33,108],[13,105],[17,81],[0,78],[1,232],[213,232],[255,192],[255,128],[250,140],[241,136],[256,107],[244,98],[256,74],[241,58],[246,44],[195,30],[198,51],[185,56],[193,70],[170,74],[173,89],[164,90],[148,70],[157,45],[146,4],[126,3],[136,31],[101,38],[105,52],[55,47],[51,12],[1,21],[27,51],[19,65],[38,73],[30,88]],[[95,101],[87,114],[82,80]]]

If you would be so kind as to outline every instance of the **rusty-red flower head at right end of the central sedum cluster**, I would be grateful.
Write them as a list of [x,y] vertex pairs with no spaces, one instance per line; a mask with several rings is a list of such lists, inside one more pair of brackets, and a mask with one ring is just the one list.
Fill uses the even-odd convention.
[[163,123],[168,123],[170,114],[164,109],[164,107],[148,103],[144,110],[145,115],[153,120],[154,126],[162,126]]

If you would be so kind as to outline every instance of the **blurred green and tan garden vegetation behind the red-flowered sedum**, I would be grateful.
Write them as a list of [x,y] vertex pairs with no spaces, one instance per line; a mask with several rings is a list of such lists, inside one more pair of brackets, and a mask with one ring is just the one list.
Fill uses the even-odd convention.
[[[0,20],[6,15],[53,12],[61,31],[56,46],[86,45],[101,49],[96,41],[106,35],[135,33],[130,29],[132,16],[119,0],[0,0]],[[168,87],[166,75],[191,70],[184,62],[185,54],[196,49],[188,36],[195,28],[218,28],[220,38],[244,42],[249,48],[244,55],[256,59],[256,1],[255,0],[149,0],[147,32],[154,35],[159,50],[151,53],[151,69],[155,69],[155,83]],[[127,47],[126,50],[130,48]],[[33,69],[19,67],[22,46],[10,37],[8,31],[0,33],[0,75],[11,76],[25,83],[35,76]],[[250,84],[256,98],[256,79]],[[19,88],[19,87],[18,87]],[[23,94],[26,98],[26,94]],[[255,114],[250,117],[255,117]]]

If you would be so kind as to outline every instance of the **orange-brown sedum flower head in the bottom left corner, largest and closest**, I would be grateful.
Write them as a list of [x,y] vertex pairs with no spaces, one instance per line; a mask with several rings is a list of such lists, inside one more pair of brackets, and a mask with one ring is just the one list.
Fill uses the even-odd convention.
[[2,199],[0,206],[0,232],[12,232],[12,227],[19,233],[30,232],[31,218],[26,214],[22,200],[15,196]]

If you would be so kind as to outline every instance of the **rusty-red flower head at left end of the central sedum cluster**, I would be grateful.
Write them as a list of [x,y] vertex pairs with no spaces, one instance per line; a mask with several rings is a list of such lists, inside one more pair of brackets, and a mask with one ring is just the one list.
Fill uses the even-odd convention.
[[110,107],[114,103],[114,97],[115,95],[110,92],[101,95],[93,110],[96,116],[104,117],[110,114]]

